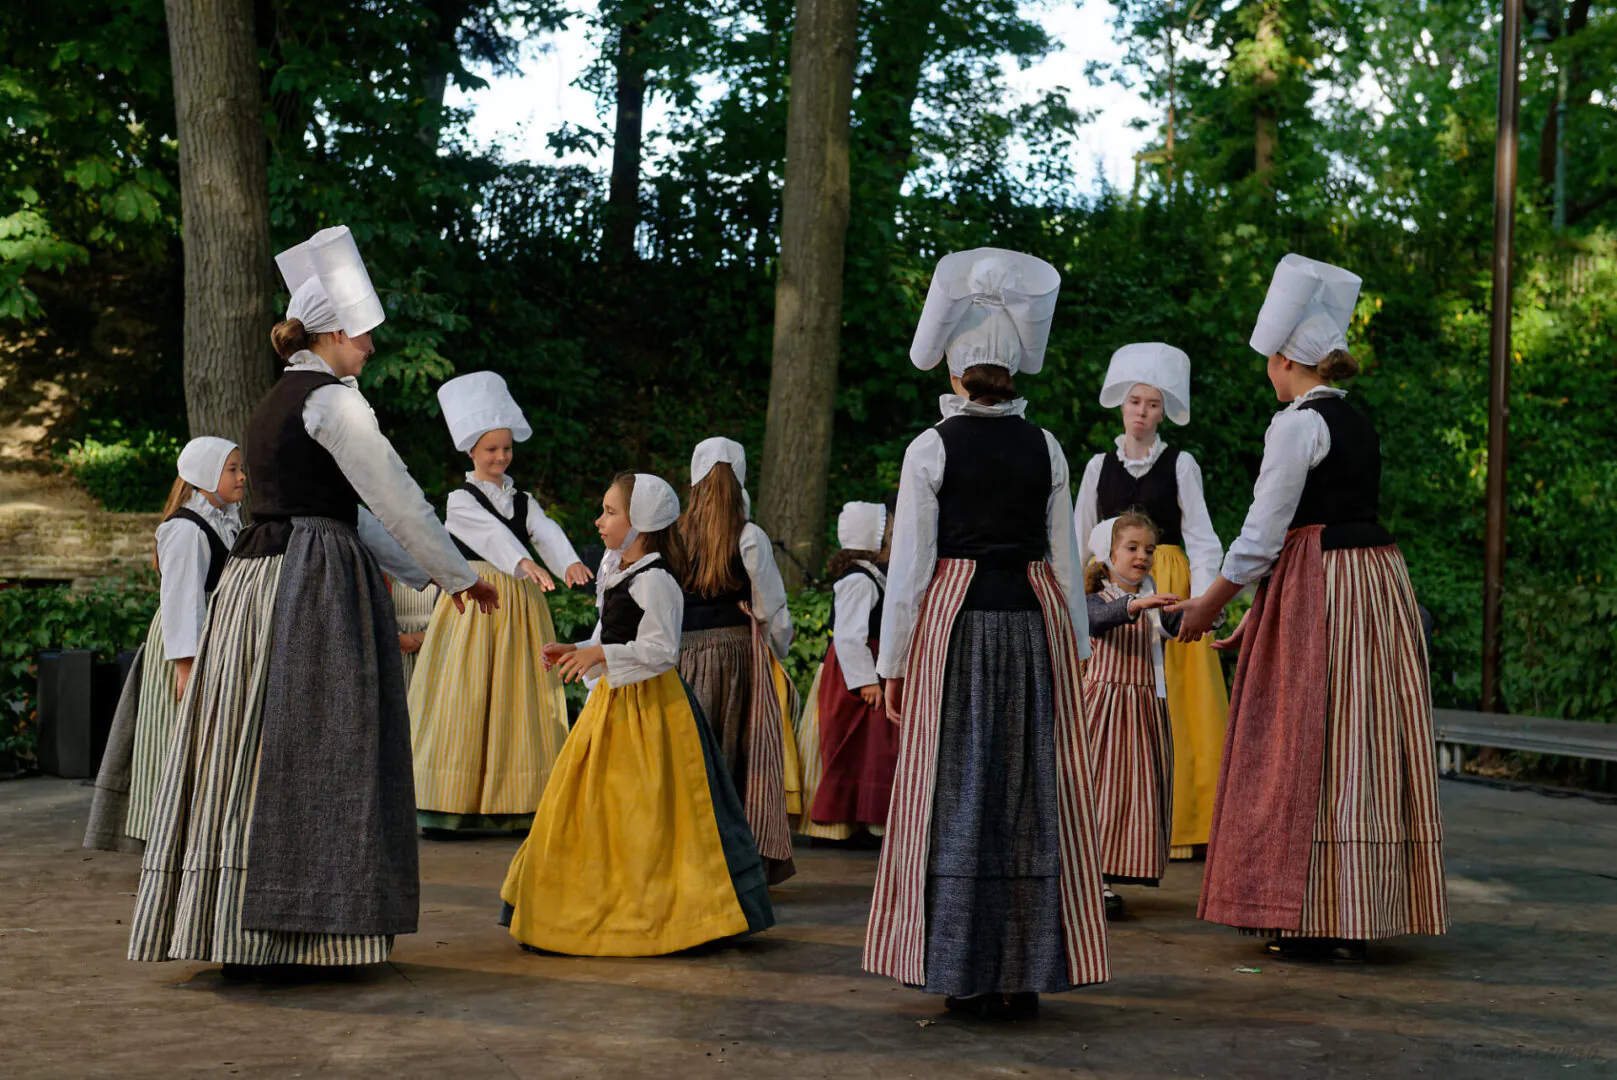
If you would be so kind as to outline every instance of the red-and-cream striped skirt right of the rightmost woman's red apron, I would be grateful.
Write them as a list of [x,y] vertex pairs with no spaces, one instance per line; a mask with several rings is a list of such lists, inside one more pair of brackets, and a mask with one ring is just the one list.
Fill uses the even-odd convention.
[[1324,776],[1302,925],[1357,938],[1449,930],[1426,642],[1397,546],[1324,553]]

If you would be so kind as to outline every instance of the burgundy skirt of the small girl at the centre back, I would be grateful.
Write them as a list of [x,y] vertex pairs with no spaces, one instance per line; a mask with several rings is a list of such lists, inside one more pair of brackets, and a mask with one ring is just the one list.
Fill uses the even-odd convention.
[[[876,652],[872,643],[870,652]],[[893,770],[899,760],[899,726],[881,705],[865,705],[847,689],[836,645],[825,653],[820,676],[820,755],[825,773],[808,820],[821,825],[886,825],[893,802]]]

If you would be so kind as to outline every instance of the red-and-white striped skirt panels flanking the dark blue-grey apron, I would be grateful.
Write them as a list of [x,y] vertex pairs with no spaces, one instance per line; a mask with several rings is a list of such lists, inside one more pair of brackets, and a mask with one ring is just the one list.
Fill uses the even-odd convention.
[[[922,598],[904,684],[904,732],[865,933],[867,972],[902,983],[927,981],[927,863],[938,773],[938,728],[949,635],[975,563],[938,559]],[[1109,978],[1106,915],[1095,850],[1090,752],[1085,736],[1079,642],[1066,598],[1046,563],[1028,566],[1049,637],[1056,692],[1056,781],[1061,839],[1061,923],[1074,985]]]

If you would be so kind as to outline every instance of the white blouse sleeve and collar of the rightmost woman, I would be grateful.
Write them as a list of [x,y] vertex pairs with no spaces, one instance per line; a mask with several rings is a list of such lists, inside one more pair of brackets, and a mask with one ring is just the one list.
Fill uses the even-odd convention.
[[1331,453],[1331,427],[1302,406],[1318,398],[1345,398],[1345,390],[1315,386],[1274,414],[1263,437],[1263,464],[1252,488],[1252,509],[1224,556],[1224,579],[1247,585],[1274,566],[1297,516],[1308,472]]

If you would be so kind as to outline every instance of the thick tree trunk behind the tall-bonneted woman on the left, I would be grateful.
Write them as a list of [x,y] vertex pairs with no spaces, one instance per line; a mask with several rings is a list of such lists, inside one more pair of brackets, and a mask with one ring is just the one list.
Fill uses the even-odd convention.
[[184,238],[186,414],[243,441],[273,380],[270,178],[251,0],[167,0]]

